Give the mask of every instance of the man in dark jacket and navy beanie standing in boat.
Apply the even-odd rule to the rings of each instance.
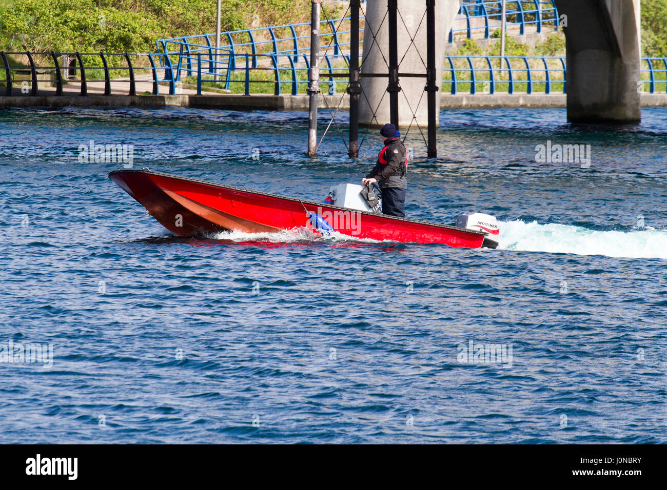
[[[406,217],[403,208],[408,189],[408,151],[401,143],[401,133],[393,124],[380,129],[384,148],[378,154],[376,166],[364,179],[362,185],[377,182],[382,190],[382,213]]]

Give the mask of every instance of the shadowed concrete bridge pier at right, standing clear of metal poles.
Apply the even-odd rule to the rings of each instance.
[[[640,0],[556,0],[556,7],[567,23],[568,121],[640,121]]]

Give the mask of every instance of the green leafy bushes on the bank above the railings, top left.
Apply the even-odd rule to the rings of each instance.
[[[155,40],[215,31],[211,0],[13,0],[0,5],[4,51],[154,51]],[[309,19],[308,0],[223,0],[221,29]]]

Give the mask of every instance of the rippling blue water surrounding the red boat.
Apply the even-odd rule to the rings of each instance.
[[[0,351],[53,349],[0,362],[3,440],[667,441],[667,109],[643,117],[447,111],[434,161],[411,130],[408,215],[496,215],[492,251],[177,239],[107,179],[120,163],[78,161],[127,143],[135,168],[322,200],[379,141],[351,161],[332,127],[307,159],[305,113],[0,111]],[[590,167],[536,163],[548,140]]]

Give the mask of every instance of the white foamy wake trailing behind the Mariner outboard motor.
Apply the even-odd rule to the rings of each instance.
[[[594,231],[569,225],[516,220],[500,224],[499,249],[667,259],[667,231]]]

